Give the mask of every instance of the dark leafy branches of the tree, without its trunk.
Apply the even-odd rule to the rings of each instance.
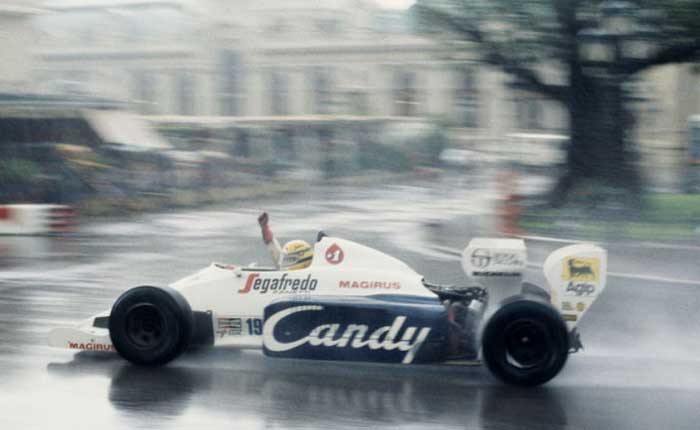
[[[537,66],[580,67],[579,34],[600,26],[601,0],[418,0],[413,7],[416,30],[448,42],[470,42],[482,59],[529,84],[531,90],[555,97],[542,85]],[[612,2],[614,3],[614,2]],[[618,4],[620,2],[617,2]],[[635,4],[636,6],[635,8]],[[661,64],[700,58],[700,1],[640,0],[629,2],[630,14],[655,47],[641,64],[620,59],[618,66],[636,73]],[[679,48],[684,48],[679,51]],[[687,49],[686,49],[687,48]],[[619,67],[618,67],[619,69]],[[536,83],[537,85],[533,85]],[[559,96],[561,97],[561,96]]]

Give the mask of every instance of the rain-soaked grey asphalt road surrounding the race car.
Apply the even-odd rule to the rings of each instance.
[[[219,349],[143,369],[111,354],[45,346],[52,327],[109,308],[130,286],[162,285],[210,261],[266,264],[261,209],[281,239],[312,241],[322,227],[429,279],[459,282],[459,265],[427,244],[431,226],[455,217],[474,215],[488,227],[489,217],[476,215],[490,210],[490,199],[470,188],[316,190],[296,203],[103,221],[75,237],[0,237],[0,428],[697,429],[700,286],[682,282],[610,278],[582,322],[586,350],[536,389],[504,386],[481,367],[273,360]],[[697,251],[684,252],[684,275],[695,276]],[[643,274],[633,254],[615,258]]]

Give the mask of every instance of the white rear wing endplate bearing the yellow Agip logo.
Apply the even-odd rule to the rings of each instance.
[[[573,329],[605,289],[608,253],[592,244],[570,245],[544,261],[552,305]]]

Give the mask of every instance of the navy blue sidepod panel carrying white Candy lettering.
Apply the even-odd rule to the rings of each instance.
[[[437,298],[285,298],[264,316],[263,351],[272,357],[425,363],[447,355],[447,311]]]

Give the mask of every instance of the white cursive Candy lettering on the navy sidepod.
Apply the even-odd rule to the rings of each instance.
[[[309,334],[291,341],[275,338],[275,327],[280,321],[300,312],[319,312],[320,305],[294,306],[275,313],[267,318],[263,332],[265,348],[273,352],[284,352],[303,345],[324,348],[369,348],[373,350],[404,351],[403,363],[411,363],[423,342],[430,334],[430,327],[404,327],[405,316],[397,316],[391,325],[382,326],[369,333],[366,324],[321,324],[310,330]],[[399,333],[403,333],[399,336]]]

